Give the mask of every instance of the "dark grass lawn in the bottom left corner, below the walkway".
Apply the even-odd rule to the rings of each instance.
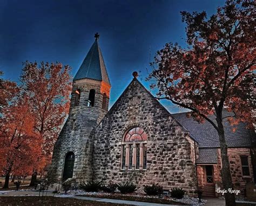
[[[0,205],[24,205],[24,206],[60,206],[60,205],[96,205],[96,206],[130,206],[129,204],[114,204],[114,203],[105,203],[105,202],[96,202],[89,200],[77,200],[74,198],[64,198],[64,197],[47,197],[46,201],[38,201],[37,196],[22,196],[22,197],[0,197]]]

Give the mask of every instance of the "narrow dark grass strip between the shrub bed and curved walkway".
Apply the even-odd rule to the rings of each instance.
[[[79,195],[79,196],[86,196],[86,197],[99,197],[99,198],[108,198],[108,199],[116,199],[116,200],[129,200],[129,201],[137,201],[137,202],[151,202],[151,203],[158,203],[158,204],[176,204],[181,205],[184,203],[174,202],[171,200],[165,200],[160,198],[151,198],[151,197],[134,197],[128,195]]]

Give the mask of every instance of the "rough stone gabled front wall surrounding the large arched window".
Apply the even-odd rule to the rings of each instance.
[[[142,127],[147,134],[147,169],[121,169],[127,129]],[[93,179],[103,183],[159,183],[164,189],[196,189],[194,141],[169,112],[134,79],[100,122],[94,135]]]

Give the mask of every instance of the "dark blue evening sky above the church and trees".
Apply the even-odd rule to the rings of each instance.
[[[59,61],[74,76],[90,49],[95,32],[112,84],[110,106],[132,80],[144,79],[154,53],[165,43],[184,45],[180,11],[215,13],[224,0],[82,1],[0,0],[0,70],[18,80],[22,62]],[[163,104],[177,112],[169,102]]]

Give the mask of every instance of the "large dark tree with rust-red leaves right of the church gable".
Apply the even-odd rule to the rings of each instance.
[[[147,80],[156,80],[158,98],[191,110],[198,122],[208,121],[219,136],[222,181],[232,188],[223,120],[252,126],[255,69],[255,3],[227,1],[207,19],[206,12],[181,12],[186,43],[166,44],[157,52]],[[223,116],[223,109],[231,115]],[[215,121],[208,115],[215,115]],[[235,205],[227,193],[226,205]]]

